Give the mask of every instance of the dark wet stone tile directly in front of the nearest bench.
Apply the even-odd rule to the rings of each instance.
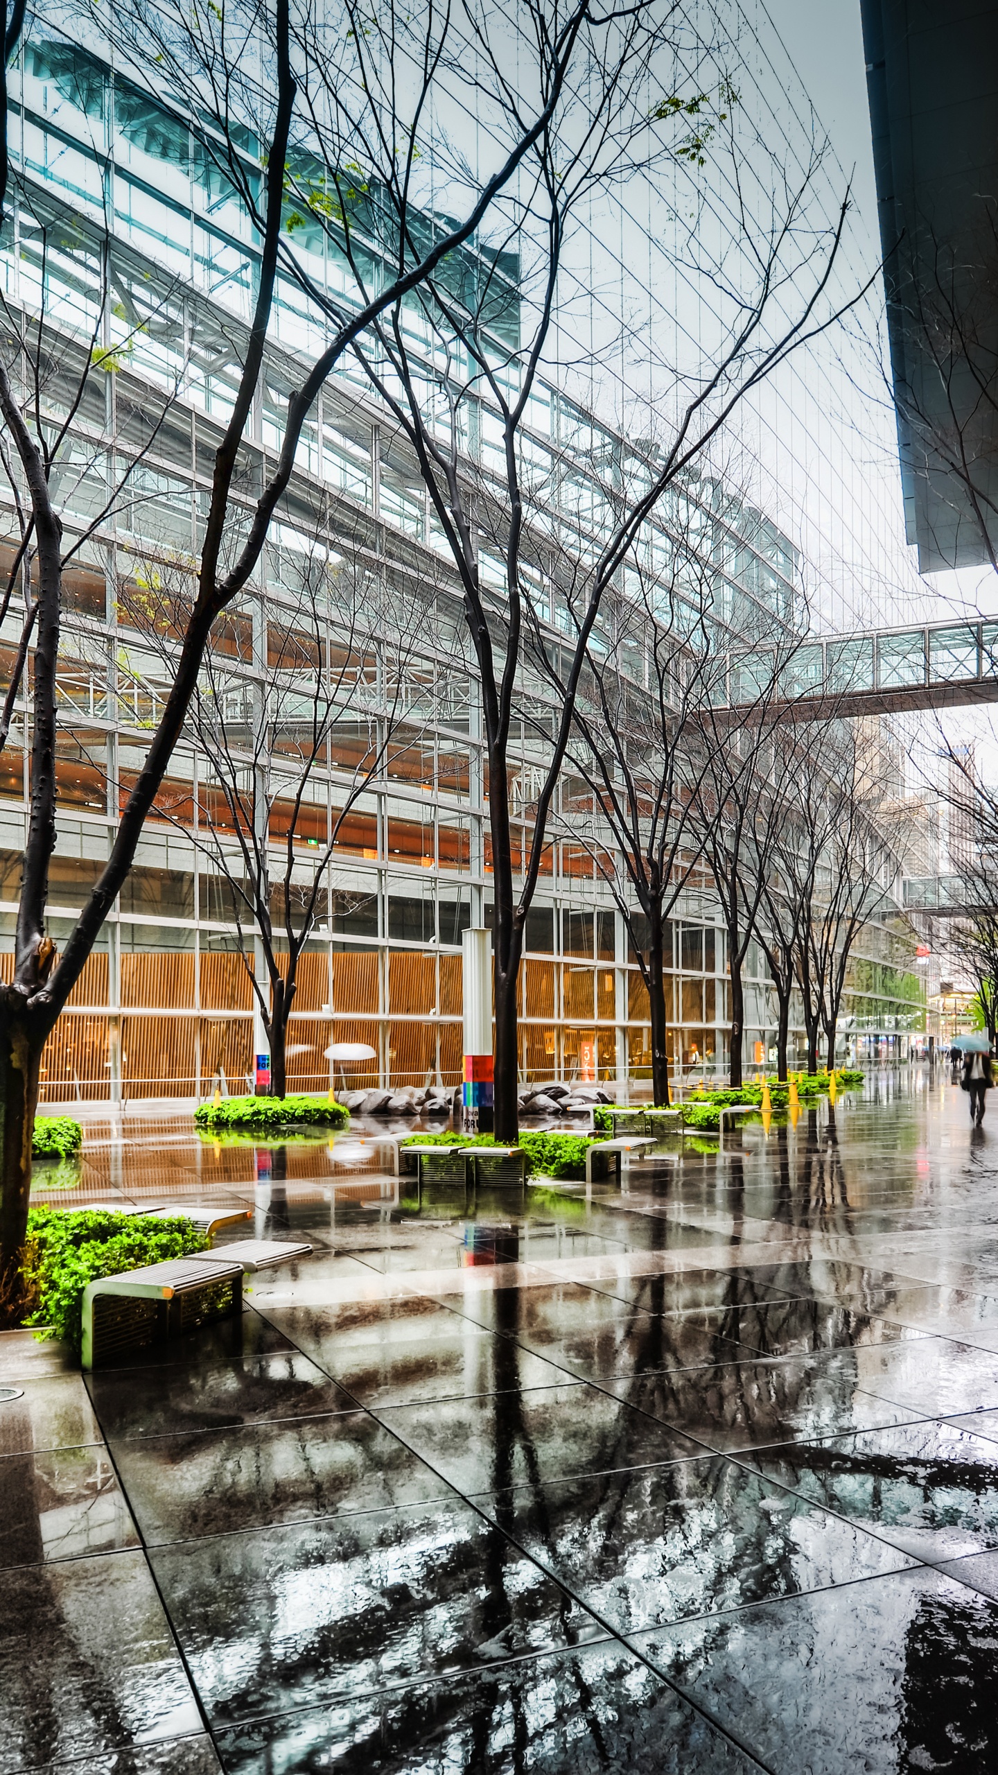
[[[87,1377],[108,1441],[224,1429],[263,1418],[350,1409],[350,1399],[298,1351],[204,1369],[96,1369]]]

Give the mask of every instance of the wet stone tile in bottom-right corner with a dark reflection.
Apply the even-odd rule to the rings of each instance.
[[[991,1775],[998,1605],[920,1567],[636,1637],[774,1775]]]

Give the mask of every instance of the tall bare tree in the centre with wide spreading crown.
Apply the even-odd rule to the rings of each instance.
[[[357,98],[343,85],[334,89],[330,73],[314,101],[316,108],[350,117],[355,142],[350,176],[327,158],[321,190],[307,181],[298,181],[297,190],[307,225],[325,225],[366,298],[364,229],[376,220],[380,238],[396,243],[400,259],[412,250],[412,160],[398,156],[385,169],[380,146],[394,128],[408,39],[394,5],[385,5],[375,20],[353,9],[350,16],[369,48],[364,92]],[[439,275],[421,284],[416,304],[407,307],[398,300],[385,311],[375,328],[376,348],[357,346],[359,367],[412,447],[433,524],[460,579],[478,662],[495,895],[495,1131],[504,1140],[517,1132],[517,978],[524,925],[547,856],[550,809],[604,595],[636,564],[646,520],[710,449],[746,394],[836,318],[829,284],[847,201],[831,225],[815,229],[803,220],[812,169],[796,185],[780,169],[764,222],[735,204],[737,245],[744,264],[751,264],[746,288],[732,289],[732,254],[725,254],[723,266],[707,268],[714,288],[728,298],[728,320],[709,364],[685,380],[677,369],[675,417],[653,462],[648,454],[627,460],[611,446],[609,433],[597,451],[566,437],[542,446],[531,435],[531,403],[554,348],[563,266],[579,213],[620,179],[653,176],[666,158],[684,154],[694,165],[703,160],[700,151],[691,153],[689,135],[677,137],[677,121],[684,128],[684,117],[696,117],[703,94],[680,91],[675,21],[671,5],[604,12],[588,0],[568,11],[549,0],[524,0],[517,12],[513,83],[510,14],[492,7],[474,12],[469,7],[462,14],[465,41],[453,66],[472,83],[492,138],[520,131],[524,92],[543,96],[545,124],[524,156],[519,188],[508,190],[495,213],[492,240],[478,264],[465,268],[467,275],[458,275],[455,259],[440,264]],[[440,51],[440,66],[449,50]],[[717,103],[726,106],[726,94],[725,87]],[[662,131],[650,131],[650,119]],[[696,122],[700,142],[703,128],[717,131],[716,144],[725,144],[737,192],[741,156],[730,110],[716,110],[709,124]],[[520,320],[511,325],[513,275],[517,312],[529,318],[522,330]],[[316,291],[316,300],[330,302],[323,291]],[[590,421],[579,415],[582,424],[591,437]],[[579,538],[568,584],[550,572],[554,509],[563,534],[575,531]],[[558,568],[558,545],[556,556]],[[549,703],[545,692],[552,682],[563,685],[563,696],[550,706],[543,733],[535,717],[536,744],[527,763],[533,797],[520,848],[513,843],[513,825],[524,774],[513,767],[510,731],[520,699]]]

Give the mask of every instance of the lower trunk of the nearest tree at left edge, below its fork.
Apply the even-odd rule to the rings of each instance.
[[[4,1127],[0,1177],[0,1298],[20,1296],[18,1269],[28,1225],[32,1191],[32,1134],[37,1108],[41,1053],[48,1035],[32,1028],[21,994],[0,996],[0,1118]]]

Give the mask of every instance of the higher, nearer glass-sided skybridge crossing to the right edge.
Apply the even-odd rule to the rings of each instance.
[[[767,685],[774,673],[778,705],[792,705],[804,721],[996,703],[998,621],[828,635],[783,655],[771,648],[732,653],[716,706],[735,714],[762,698],[772,708]]]

